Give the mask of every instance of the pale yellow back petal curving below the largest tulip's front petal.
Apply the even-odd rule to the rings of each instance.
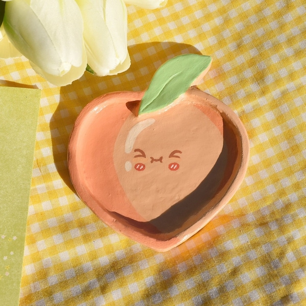
[[[66,86],[71,84],[73,81],[78,80],[84,74],[87,65],[87,56],[85,46],[83,46],[83,59],[82,64],[79,67],[72,66],[71,69],[65,73],[64,75],[54,75],[49,74],[43,71],[40,67],[35,65],[33,62],[30,61],[32,68],[40,74],[43,78],[45,78],[48,82],[55,86]]]

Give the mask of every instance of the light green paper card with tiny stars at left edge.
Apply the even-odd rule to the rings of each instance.
[[[0,86],[0,305],[19,305],[39,101]]]

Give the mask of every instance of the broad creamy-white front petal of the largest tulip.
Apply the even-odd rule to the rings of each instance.
[[[14,0],[6,4],[10,41],[36,66],[54,75],[82,64],[83,22],[74,0]]]

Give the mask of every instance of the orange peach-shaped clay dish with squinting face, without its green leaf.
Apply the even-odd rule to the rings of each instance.
[[[249,142],[238,116],[195,87],[140,114],[144,95],[113,92],[88,104],[70,136],[68,168],[75,190],[101,220],[166,251],[231,199],[247,169]]]

